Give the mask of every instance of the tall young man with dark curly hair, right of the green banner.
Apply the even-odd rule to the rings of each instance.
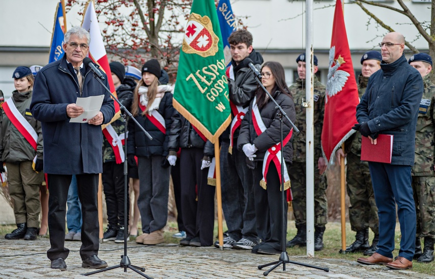
[[[220,137],[222,210],[229,235],[223,239],[223,247],[251,250],[258,243],[252,192],[253,176],[246,165],[245,154],[233,148],[233,143],[234,146],[237,143],[240,124],[258,85],[246,58],[250,58],[259,70],[263,57],[253,49],[252,35],[247,30],[231,33],[228,42],[233,56],[228,79],[233,122]],[[219,247],[219,241],[215,242],[215,247]]]

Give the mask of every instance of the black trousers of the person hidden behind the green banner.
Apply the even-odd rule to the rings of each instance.
[[[181,207],[187,236],[199,237],[202,246],[211,246],[215,222],[215,187],[207,184],[208,168],[201,170],[203,156],[200,148],[185,148],[181,151]]]

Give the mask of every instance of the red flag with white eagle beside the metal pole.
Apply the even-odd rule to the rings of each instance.
[[[322,129],[322,151],[329,162],[335,151],[349,138],[359,103],[358,87],[347,42],[341,1],[335,4],[331,49],[329,50],[328,81],[325,96],[325,117]]]

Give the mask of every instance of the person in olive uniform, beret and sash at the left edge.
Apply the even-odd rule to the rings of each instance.
[[[17,229],[5,238],[35,240],[41,212],[39,186],[44,180],[42,128],[29,110],[34,81],[31,69],[19,66],[12,78],[16,90],[2,103],[0,171],[5,171],[5,162]]]

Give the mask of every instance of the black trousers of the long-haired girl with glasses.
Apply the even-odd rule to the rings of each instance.
[[[263,178],[263,162],[257,162],[254,169],[254,199],[257,218],[257,233],[270,246],[281,250],[282,226],[287,228],[287,202],[284,200],[284,210],[281,206],[281,191],[278,171],[272,162],[267,173],[267,189],[263,189],[259,182]],[[286,197],[284,192],[284,197]],[[282,224],[282,214],[285,223]],[[284,239],[285,241],[285,239]]]

